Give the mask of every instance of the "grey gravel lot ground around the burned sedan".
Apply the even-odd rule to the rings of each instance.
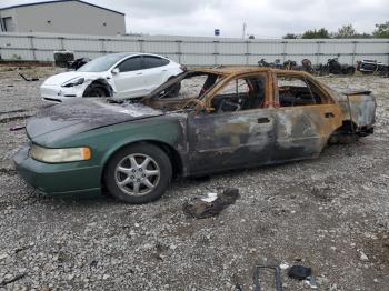
[[[0,68],[0,290],[251,290],[256,264],[281,262],[311,267],[319,290],[388,290],[389,79],[321,80],[372,90],[373,136],[317,160],[178,181],[160,201],[128,205],[42,197],[18,178],[11,157],[27,138],[9,128],[43,106],[41,82]],[[227,187],[241,198],[219,217],[183,214],[184,201]]]

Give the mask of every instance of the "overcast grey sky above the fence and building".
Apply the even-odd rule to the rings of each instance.
[[[127,32],[241,38],[280,38],[351,23],[371,32],[389,21],[388,0],[84,0],[126,13]],[[0,0],[0,8],[38,0]]]

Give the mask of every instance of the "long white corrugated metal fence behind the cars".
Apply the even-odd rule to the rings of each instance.
[[[242,40],[174,36],[91,37],[47,33],[0,33],[0,56],[4,60],[52,61],[53,51],[70,50],[76,58],[96,58],[112,52],[151,52],[187,66],[256,66],[258,60],[308,58],[326,63],[339,56],[342,63],[372,59],[389,63],[389,39]]]

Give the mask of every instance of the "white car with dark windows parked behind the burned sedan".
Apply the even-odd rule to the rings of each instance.
[[[43,100],[62,102],[74,97],[130,99],[146,96],[181,73],[183,67],[150,53],[112,53],[99,57],[77,71],[48,78],[40,88]],[[172,88],[171,94],[180,88]]]

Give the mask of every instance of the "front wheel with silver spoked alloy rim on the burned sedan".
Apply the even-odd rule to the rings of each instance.
[[[167,153],[149,143],[119,150],[108,161],[103,181],[114,198],[140,204],[162,197],[169,187],[172,167]]]

